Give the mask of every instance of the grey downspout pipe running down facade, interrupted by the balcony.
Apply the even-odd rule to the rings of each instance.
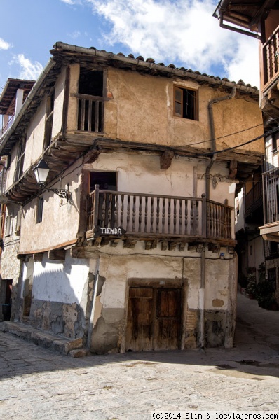
[[[205,172],[205,197],[207,200],[210,200],[210,169],[212,168],[213,163],[216,160],[216,135],[215,135],[215,125],[214,125],[214,116],[213,116],[213,104],[217,104],[221,101],[226,101],[233,99],[236,96],[236,85],[233,86],[230,94],[226,94],[224,97],[218,97],[211,99],[208,103],[208,115],[210,120],[210,136],[212,139],[212,158],[209,165],[207,165]],[[200,257],[200,288],[198,290],[198,314],[199,314],[199,337],[198,337],[198,346],[200,349],[205,347],[205,244],[203,244],[203,249],[201,251]]]

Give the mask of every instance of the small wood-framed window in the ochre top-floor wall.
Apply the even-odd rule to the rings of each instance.
[[[198,120],[197,91],[174,86],[174,115],[177,117]]]

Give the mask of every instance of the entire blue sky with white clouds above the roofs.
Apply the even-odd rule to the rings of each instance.
[[[56,41],[152,57],[259,86],[254,38],[221,29],[218,0],[0,0],[0,87],[36,79]],[[1,93],[1,88],[0,88]]]

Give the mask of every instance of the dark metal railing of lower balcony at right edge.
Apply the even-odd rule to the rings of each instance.
[[[275,223],[279,221],[279,169],[272,169],[264,172],[264,224]]]

